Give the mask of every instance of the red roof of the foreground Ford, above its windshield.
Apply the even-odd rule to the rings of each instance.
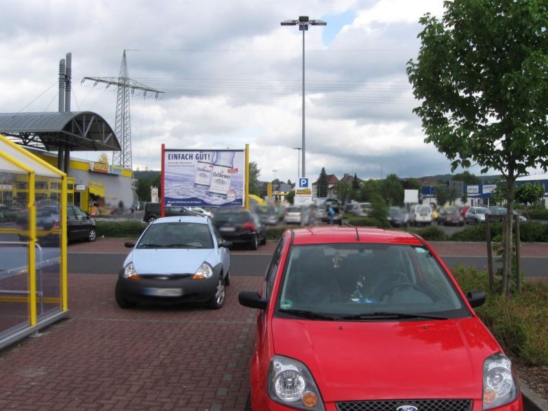
[[[360,240],[356,237],[356,228]],[[421,240],[407,232],[366,227],[309,227],[293,230],[294,245],[332,244],[335,242],[423,245]]]

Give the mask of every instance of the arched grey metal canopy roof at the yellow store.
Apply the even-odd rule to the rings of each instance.
[[[120,151],[112,127],[94,112],[0,113],[0,133],[47,151]]]

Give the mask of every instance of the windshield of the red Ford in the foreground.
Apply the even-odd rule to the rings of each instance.
[[[380,244],[293,246],[277,299],[279,313],[470,313],[425,247]]]

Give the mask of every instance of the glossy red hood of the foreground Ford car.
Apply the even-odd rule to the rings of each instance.
[[[324,401],[482,397],[500,351],[477,319],[329,322],[273,319],[275,353],[308,366]]]

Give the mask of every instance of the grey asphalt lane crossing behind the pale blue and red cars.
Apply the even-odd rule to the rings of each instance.
[[[116,274],[123,264],[127,253],[69,253],[69,273],[75,274]],[[486,257],[471,256],[441,256],[445,264],[452,268],[457,264],[474,266],[484,269],[487,266]],[[264,275],[271,256],[265,254],[236,254],[231,256],[231,275]],[[495,263],[495,270],[501,266]],[[547,276],[548,256],[522,257],[521,269],[526,277]]]

